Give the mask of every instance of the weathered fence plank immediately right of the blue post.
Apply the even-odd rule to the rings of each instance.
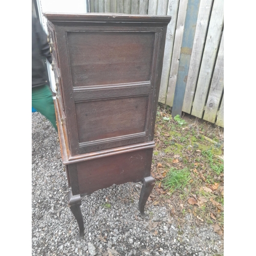
[[[188,114],[191,113],[192,103],[195,96],[212,2],[213,0],[201,0],[200,2],[194,44],[187,75],[186,91],[182,106],[182,111]]]

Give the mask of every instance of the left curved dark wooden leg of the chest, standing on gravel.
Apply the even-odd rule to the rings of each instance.
[[[69,207],[76,218],[78,227],[79,227],[79,234],[77,235],[77,240],[81,240],[84,234],[84,226],[83,226],[83,219],[82,219],[82,212],[80,209],[81,205],[81,197],[80,195],[72,195],[72,191],[68,194],[68,203]]]

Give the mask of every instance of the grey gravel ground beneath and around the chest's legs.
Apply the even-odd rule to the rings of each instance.
[[[85,235],[76,241],[77,222],[68,207],[57,133],[32,113],[32,255],[223,255],[223,240],[211,225],[178,226],[168,206],[145,206],[139,217],[142,184],[126,183],[82,198]]]

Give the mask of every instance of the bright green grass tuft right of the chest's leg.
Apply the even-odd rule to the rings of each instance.
[[[162,180],[162,184],[165,189],[169,189],[170,193],[173,193],[176,189],[183,189],[190,178],[191,175],[187,168],[181,170],[171,168]]]

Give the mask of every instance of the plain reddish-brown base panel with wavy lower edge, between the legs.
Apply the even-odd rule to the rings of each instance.
[[[153,148],[77,163],[81,195],[150,176]]]

